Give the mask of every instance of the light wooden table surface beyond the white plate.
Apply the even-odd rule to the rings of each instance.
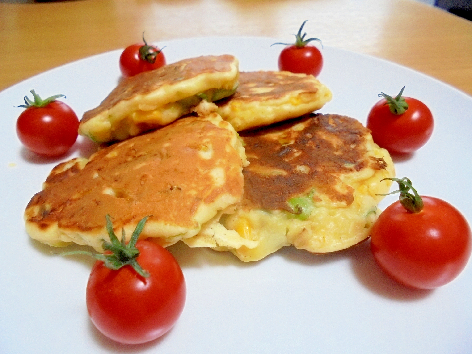
[[[93,54],[212,35],[292,41],[303,20],[324,45],[411,67],[472,95],[472,22],[412,0],[0,2],[0,91]],[[386,73],[386,75],[388,75]]]

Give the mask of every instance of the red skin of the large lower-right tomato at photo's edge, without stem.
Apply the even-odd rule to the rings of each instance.
[[[472,236],[464,216],[451,204],[421,196],[419,213],[399,201],[388,206],[371,231],[371,249],[380,268],[413,288],[432,289],[449,283],[471,255]]]

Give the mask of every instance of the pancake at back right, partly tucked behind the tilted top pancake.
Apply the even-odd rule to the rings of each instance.
[[[328,87],[312,75],[254,71],[239,73],[236,93],[217,104],[221,117],[239,132],[300,117],[330,100]]]

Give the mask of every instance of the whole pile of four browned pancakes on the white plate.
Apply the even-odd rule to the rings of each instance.
[[[141,238],[242,261],[291,244],[312,253],[357,244],[394,168],[357,120],[311,113],[330,99],[313,76],[239,72],[231,55],[128,78],[79,127],[118,142],[56,166],[26,207],[26,230],[103,252],[106,214],[128,239],[149,216]]]

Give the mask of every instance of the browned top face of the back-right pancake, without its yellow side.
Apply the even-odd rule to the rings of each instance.
[[[280,71],[239,72],[239,86],[236,93],[217,104],[221,106],[229,100],[245,102],[276,100],[296,91],[317,93],[318,88],[313,80],[313,76]]]

